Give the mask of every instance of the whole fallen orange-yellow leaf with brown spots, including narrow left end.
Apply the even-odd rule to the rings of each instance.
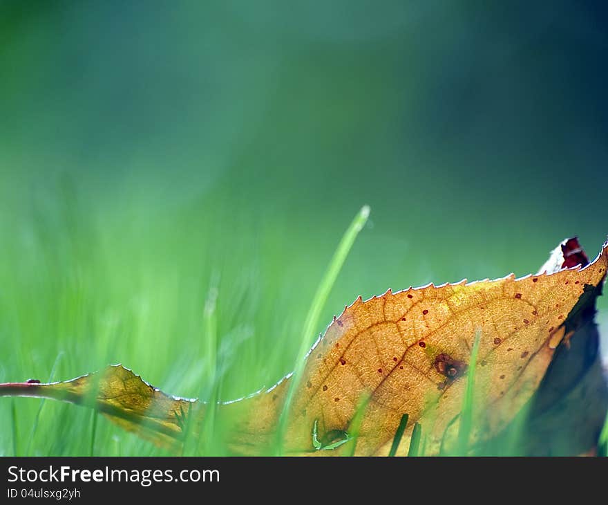
[[[578,244],[578,243],[577,243]],[[397,454],[407,452],[415,423],[426,454],[455,443],[475,335],[473,441],[497,434],[538,388],[555,347],[575,329],[577,307],[594,301],[608,267],[608,244],[591,264],[562,246],[549,272],[515,279],[390,290],[334,318],[308,353],[279,441],[287,454],[388,455],[403,414],[409,422]],[[586,258],[585,258],[586,259]],[[551,270],[558,270],[551,273]],[[272,450],[292,377],[240,401],[218,405],[231,419],[235,453]],[[39,396],[95,407],[124,428],[167,443],[181,441],[193,400],[168,396],[128,369],[113,366],[64,383],[8,383],[0,396]],[[365,402],[362,404],[362,400]],[[204,408],[196,410],[199,432]],[[236,421],[235,421],[236,420]],[[335,450],[318,451],[332,442]],[[345,441],[345,443],[341,443]]]

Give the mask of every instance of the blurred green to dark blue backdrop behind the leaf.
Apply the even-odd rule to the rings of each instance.
[[[571,235],[595,257],[607,21],[591,1],[0,1],[0,382],[122,362],[197,396],[216,288],[220,395],[271,385],[365,203],[319,331],[359,294],[526,275]],[[0,454],[90,453],[90,411],[0,400]],[[104,419],[94,452],[162,453]]]

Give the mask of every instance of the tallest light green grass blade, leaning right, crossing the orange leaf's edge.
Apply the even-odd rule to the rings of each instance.
[[[316,328],[319,326],[321,310],[323,309],[323,306],[325,306],[325,302],[327,302],[327,297],[330,295],[330,291],[336,282],[336,278],[342,269],[344,261],[348,256],[348,252],[350,252],[350,248],[352,248],[352,244],[354,244],[355,239],[357,239],[357,235],[359,235],[359,232],[361,229],[363,229],[363,226],[365,226],[369,216],[370,208],[368,205],[363,205],[343,235],[338,248],[336,248],[334,256],[330,261],[330,265],[327,267],[325,275],[323,275],[323,279],[321,279],[321,284],[319,284],[319,287],[317,288],[312,299],[310,309],[308,309],[301,336],[300,349],[298,350],[298,356],[296,357],[296,367],[292,374],[289,389],[287,390],[287,396],[285,397],[285,403],[283,405],[283,410],[281,411],[281,416],[278,420],[276,432],[276,453],[278,455],[283,453],[283,436],[287,426],[289,408],[292,405],[294,393],[296,392],[296,387],[298,387],[298,383],[304,369],[306,354],[310,349],[310,336],[314,334]]]

